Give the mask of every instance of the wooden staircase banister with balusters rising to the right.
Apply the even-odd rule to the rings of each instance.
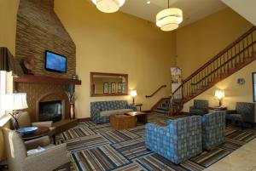
[[[183,83],[171,94],[170,112],[177,115],[183,109],[183,104],[202,94],[216,83],[241,70],[253,60],[256,60],[256,27],[237,38],[230,45],[197,71],[183,80]],[[182,91],[180,103],[175,102],[175,94]],[[177,101],[177,100],[176,100]]]

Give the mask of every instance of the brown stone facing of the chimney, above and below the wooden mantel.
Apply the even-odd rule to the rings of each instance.
[[[44,69],[44,52],[53,51],[67,56],[67,73]],[[54,0],[20,0],[17,14],[16,54],[22,61],[33,58],[35,75],[71,78],[76,73],[76,47],[61,20],[54,12]],[[69,116],[69,103],[64,93],[68,85],[15,83],[15,90],[27,94],[27,103],[32,121],[38,121],[38,102],[62,100],[65,117]]]

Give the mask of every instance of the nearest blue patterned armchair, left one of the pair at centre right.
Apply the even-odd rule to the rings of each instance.
[[[201,117],[168,120],[166,127],[146,125],[146,147],[178,164],[202,151]]]

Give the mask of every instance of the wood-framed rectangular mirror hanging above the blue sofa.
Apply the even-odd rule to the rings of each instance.
[[[90,72],[90,96],[128,95],[128,74]]]

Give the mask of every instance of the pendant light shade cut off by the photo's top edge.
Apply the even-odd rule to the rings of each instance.
[[[97,9],[103,13],[114,13],[119,10],[125,0],[92,0],[96,4]]]

